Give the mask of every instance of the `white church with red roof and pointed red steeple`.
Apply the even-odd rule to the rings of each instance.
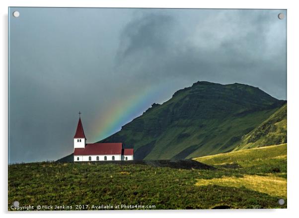
[[[81,118],[79,116],[74,136],[74,161],[107,160],[134,160],[134,149],[124,148],[123,143],[87,144]]]

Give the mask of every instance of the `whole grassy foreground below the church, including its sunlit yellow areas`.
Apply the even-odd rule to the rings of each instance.
[[[133,162],[13,164],[8,166],[8,210],[13,210],[14,201],[20,206],[34,206],[33,210],[38,205],[65,206],[58,210],[86,209],[76,205],[88,205],[89,210],[103,205],[151,209],[286,208],[286,155],[287,146],[276,145],[198,159],[215,169]],[[278,204],[280,198],[285,205]]]

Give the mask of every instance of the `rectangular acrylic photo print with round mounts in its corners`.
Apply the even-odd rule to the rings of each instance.
[[[287,10],[8,8],[8,211],[287,208]]]

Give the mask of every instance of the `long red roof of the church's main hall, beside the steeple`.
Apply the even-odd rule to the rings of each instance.
[[[74,155],[122,154],[122,143],[86,144],[85,148],[75,148]]]

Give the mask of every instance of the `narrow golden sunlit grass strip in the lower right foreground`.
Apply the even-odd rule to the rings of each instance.
[[[197,179],[196,186],[219,185],[245,187],[271,196],[287,198],[287,179],[278,176],[244,175],[244,177],[224,176],[213,179]]]

